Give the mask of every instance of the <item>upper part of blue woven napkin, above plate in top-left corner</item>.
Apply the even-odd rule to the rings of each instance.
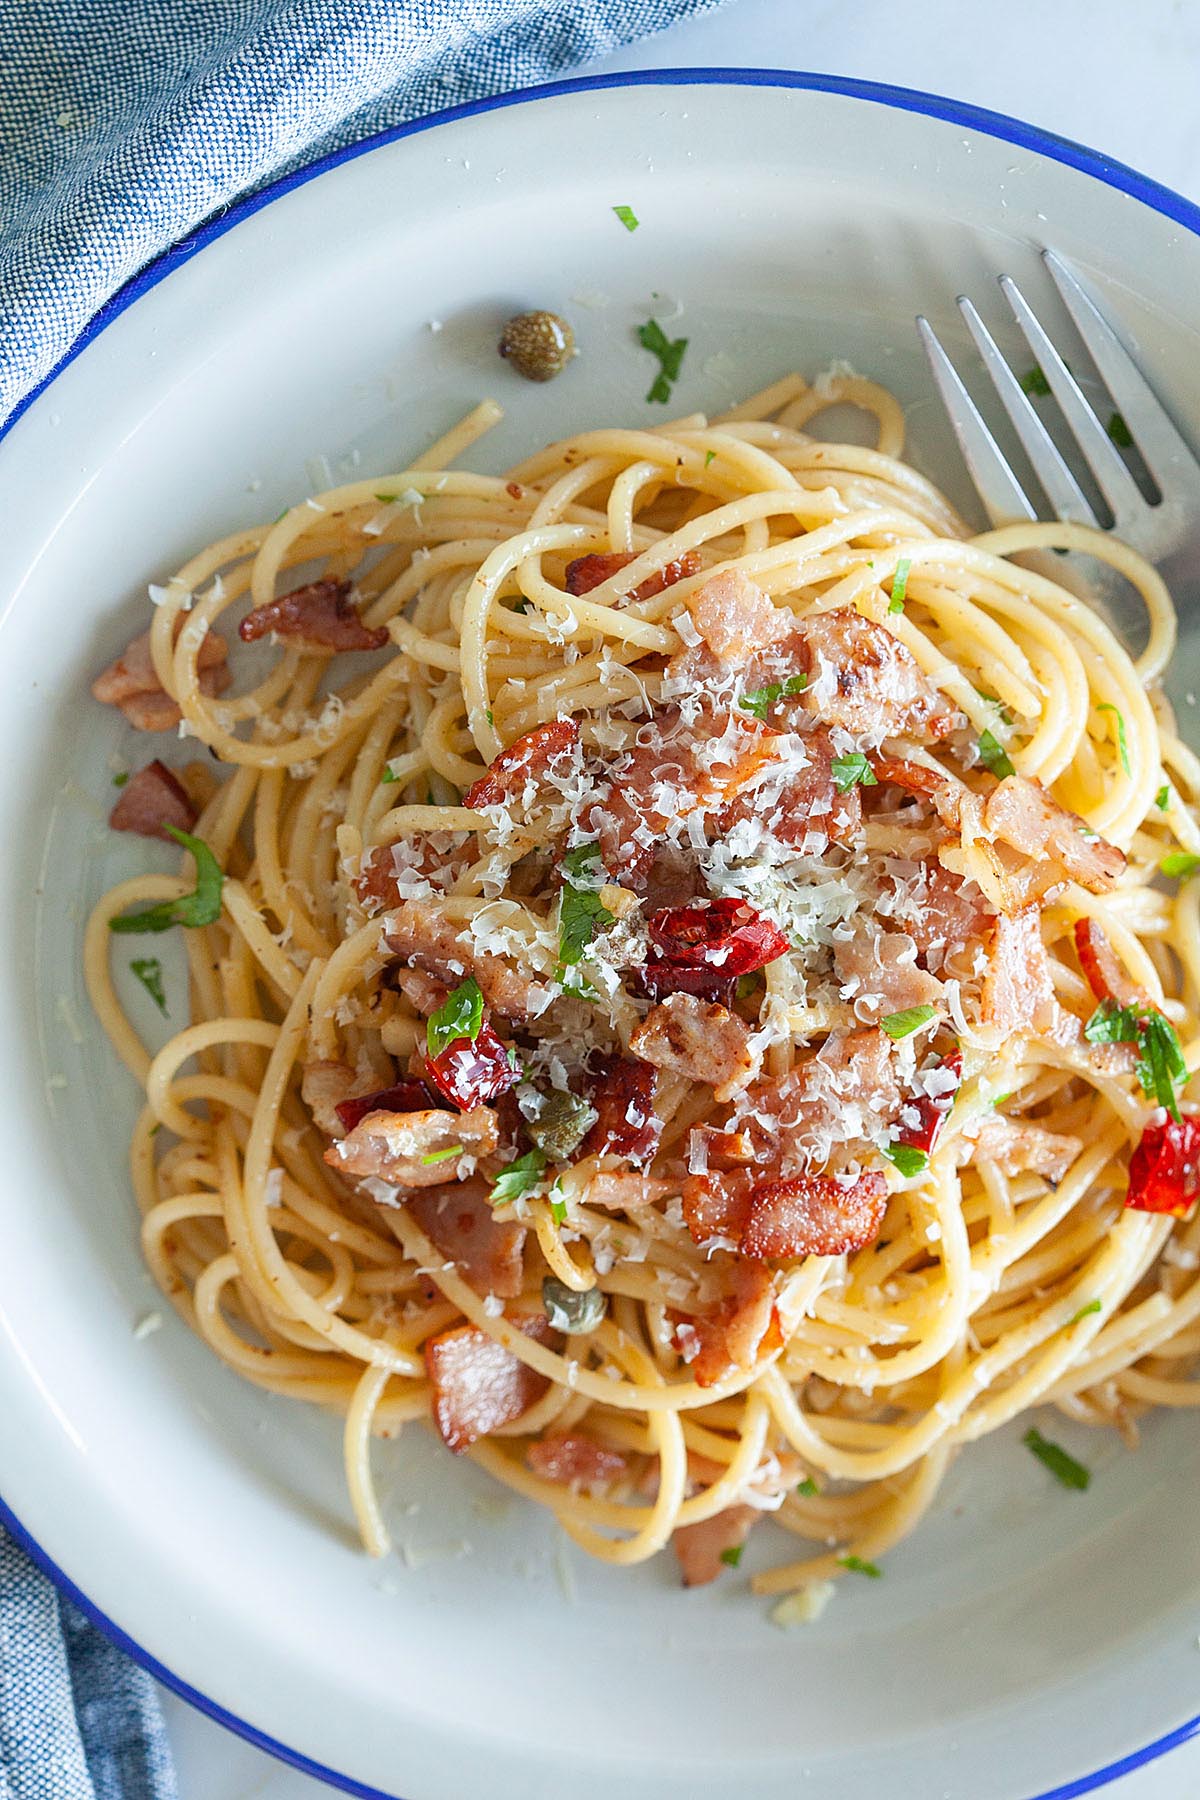
[[[0,423],[117,288],[241,194],[720,4],[0,0]]]

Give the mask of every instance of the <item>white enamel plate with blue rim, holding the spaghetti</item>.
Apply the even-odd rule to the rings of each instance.
[[[106,760],[131,745],[86,682],[140,628],[148,581],[322,484],[322,457],[394,470],[488,392],[509,409],[488,466],[649,418],[631,328],[673,310],[662,295],[691,340],[680,410],[847,356],[910,403],[937,472],[912,315],[961,342],[954,295],[988,302],[1002,268],[1047,299],[1045,241],[1195,427],[1200,218],[1011,122],[792,76],[581,83],[363,149],[158,266],[0,448],[11,1516],[158,1672],[347,1786],[1081,1793],[1198,1710],[1191,1415],[1151,1420],[1137,1456],[1088,1436],[1087,1496],[1013,1435],[972,1449],[885,1580],[781,1634],[736,1579],[684,1593],[667,1561],[585,1566],[543,1516],[497,1517],[486,1478],[417,1431],[376,1451],[408,1557],[372,1564],[333,1418],[243,1386],[171,1316],[135,1339],[158,1305],[124,1168],[135,1093],[88,1019],[79,936],[148,846],[104,830]],[[529,304],[581,344],[545,389],[493,349]]]

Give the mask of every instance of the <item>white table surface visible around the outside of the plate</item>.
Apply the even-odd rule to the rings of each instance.
[[[813,68],[930,88],[1079,139],[1200,200],[1196,0],[730,0],[721,13],[594,67],[696,63]],[[164,1708],[182,1800],[329,1793],[173,1694],[164,1692]],[[1200,1739],[1105,1793],[1193,1800]],[[486,1777],[464,1800],[488,1800]]]

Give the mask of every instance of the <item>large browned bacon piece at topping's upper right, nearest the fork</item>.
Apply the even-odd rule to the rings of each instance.
[[[921,673],[900,639],[853,607],[808,614],[795,637],[808,673],[799,704],[826,725],[876,742],[898,736],[937,742],[964,729],[964,715]],[[790,644],[792,639],[779,648]]]

